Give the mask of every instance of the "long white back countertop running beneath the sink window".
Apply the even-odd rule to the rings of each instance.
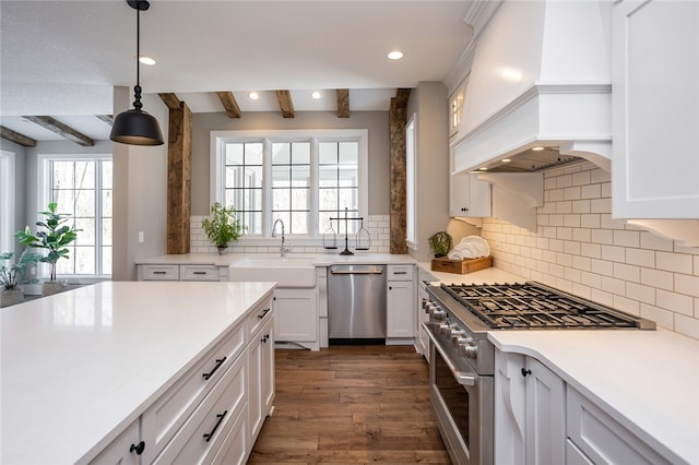
[[[159,257],[150,257],[147,259],[139,259],[137,265],[167,265],[167,264],[197,264],[197,265],[215,265],[229,266],[236,262],[246,259],[273,259],[280,258],[279,253],[225,253],[218,255],[216,253],[182,253],[168,254]],[[356,264],[403,264],[415,263],[415,259],[411,255],[399,255],[391,253],[355,253],[354,255],[340,255],[339,252],[333,253],[287,253],[287,260],[308,260],[315,266],[329,266],[339,263],[356,263]]]

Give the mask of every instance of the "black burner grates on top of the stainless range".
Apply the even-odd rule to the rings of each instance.
[[[641,325],[641,320],[631,315],[540,283],[442,284],[441,288],[493,330],[618,329]]]

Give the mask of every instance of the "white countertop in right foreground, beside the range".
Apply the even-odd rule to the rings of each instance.
[[[673,463],[699,464],[699,341],[656,331],[491,331]],[[684,462],[683,462],[684,461]]]

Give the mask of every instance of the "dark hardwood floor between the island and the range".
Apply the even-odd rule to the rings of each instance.
[[[449,464],[412,346],[276,349],[274,414],[249,464]]]

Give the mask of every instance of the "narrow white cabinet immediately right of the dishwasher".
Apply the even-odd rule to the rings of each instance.
[[[410,339],[415,336],[416,289],[414,265],[389,265],[387,270],[387,337]],[[390,343],[390,341],[389,341]]]

